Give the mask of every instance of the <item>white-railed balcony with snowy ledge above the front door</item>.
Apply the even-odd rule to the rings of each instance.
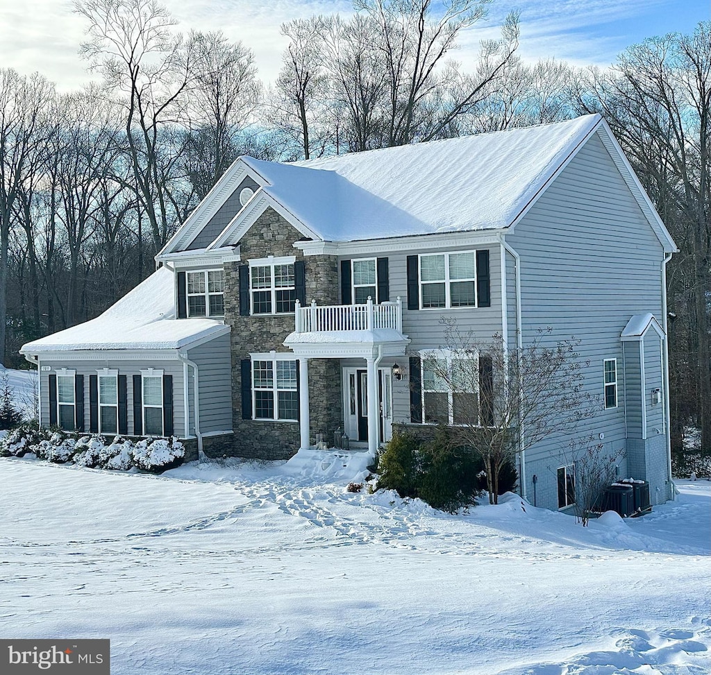
[[[296,301],[294,332],[284,345],[306,358],[402,355],[410,342],[402,334],[402,302],[376,305],[301,307]]]

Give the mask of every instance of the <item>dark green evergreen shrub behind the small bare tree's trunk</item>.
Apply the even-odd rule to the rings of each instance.
[[[454,513],[479,495],[479,461],[471,448],[455,446],[449,429],[439,426],[420,448],[419,496],[435,509]]]

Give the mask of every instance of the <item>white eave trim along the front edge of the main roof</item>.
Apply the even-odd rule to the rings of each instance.
[[[407,237],[383,237],[383,239],[360,239],[355,242],[294,242],[305,256],[333,255],[343,257],[377,256],[379,253],[421,251],[439,253],[444,249],[456,253],[455,247],[486,247],[501,242],[502,229],[480,229],[471,232],[441,232],[411,234]]]

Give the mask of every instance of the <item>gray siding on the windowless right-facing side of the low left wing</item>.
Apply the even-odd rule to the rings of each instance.
[[[188,359],[198,366],[200,387],[200,431],[232,431],[232,371],[230,335],[205,342],[188,351]],[[188,369],[191,401],[191,434],[195,432],[193,416],[193,370]]]

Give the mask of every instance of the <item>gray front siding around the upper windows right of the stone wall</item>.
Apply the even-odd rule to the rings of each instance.
[[[416,253],[439,253],[488,249],[489,276],[491,289],[490,307],[467,307],[457,309],[407,309],[407,256]],[[372,256],[363,256],[372,257]],[[501,333],[501,253],[498,245],[488,244],[468,247],[438,247],[420,251],[380,253],[378,257],[387,257],[388,281],[390,285],[390,301],[397,297],[402,301],[402,333],[410,338],[407,347],[408,354],[419,350],[440,349],[446,347],[444,342],[444,325],[442,318],[456,319],[462,333],[471,331],[475,340],[486,340],[494,333]],[[341,260],[357,260],[358,256],[341,257],[338,259],[340,270]],[[339,274],[339,284],[341,283]],[[339,289],[340,291],[340,289]],[[394,423],[410,422],[410,372],[408,355],[396,357],[402,366],[404,377],[400,382],[392,383],[392,420]],[[365,362],[363,367],[365,367]]]

